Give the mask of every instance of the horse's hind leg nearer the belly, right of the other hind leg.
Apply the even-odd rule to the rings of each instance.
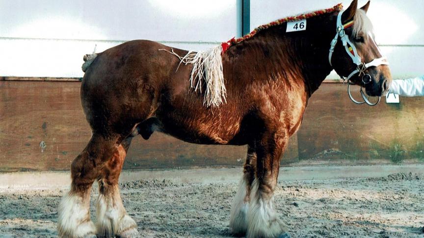
[[[131,143],[131,137],[118,146],[103,167],[99,177],[99,197],[96,203],[96,228],[99,237],[139,237],[137,224],[127,214],[122,204],[118,179]]]

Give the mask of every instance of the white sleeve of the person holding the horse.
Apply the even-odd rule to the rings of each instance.
[[[389,93],[401,96],[424,96],[424,75],[416,78],[392,80]]]

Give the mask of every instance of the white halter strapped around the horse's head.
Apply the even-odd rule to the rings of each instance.
[[[330,65],[333,66],[331,64],[331,57],[333,56],[334,48],[336,47],[339,36],[340,36],[340,39],[342,40],[344,49],[346,50],[347,54],[350,56],[350,58],[352,58],[353,63],[357,65],[357,69],[354,70],[353,72],[351,72],[347,76],[347,80],[349,80],[356,73],[359,73],[359,76],[360,76],[361,73],[364,73],[364,71],[367,70],[370,67],[377,67],[379,65],[389,65],[389,62],[384,61],[384,60],[386,60],[385,57],[373,59],[371,62],[369,62],[367,64],[362,63],[362,59],[361,59],[361,57],[359,57],[358,52],[356,51],[355,45],[352,44],[352,42],[350,42],[349,36],[344,33],[344,28],[347,28],[348,26],[344,26],[342,24],[342,14],[343,14],[343,11],[340,11],[339,15],[337,16],[336,36],[331,41],[331,46],[330,46],[330,50],[329,50],[330,52],[328,54],[328,61],[330,62]],[[349,49],[348,45],[349,45],[350,49]],[[367,84],[368,82],[364,82],[364,83]]]

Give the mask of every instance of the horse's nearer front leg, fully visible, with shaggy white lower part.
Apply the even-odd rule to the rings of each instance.
[[[290,238],[274,210],[280,157],[288,142],[286,130],[264,133],[256,143],[256,174],[250,190],[247,238]]]

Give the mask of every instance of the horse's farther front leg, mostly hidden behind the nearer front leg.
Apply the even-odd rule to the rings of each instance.
[[[247,210],[250,200],[250,187],[255,178],[256,151],[248,146],[243,176],[238,185],[236,197],[231,206],[230,228],[234,235],[243,236],[247,231]]]

